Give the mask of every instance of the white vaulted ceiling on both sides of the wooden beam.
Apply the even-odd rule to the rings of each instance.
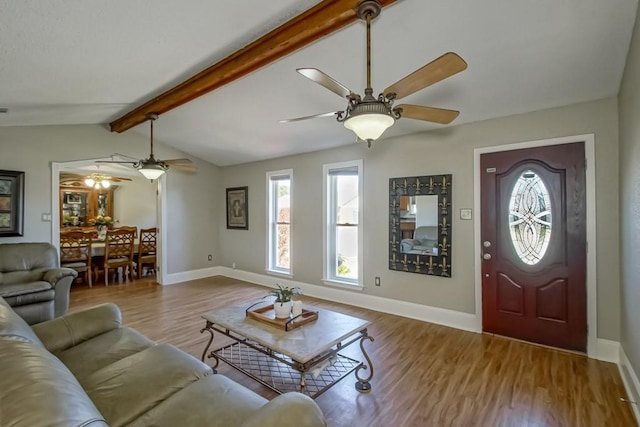
[[[317,0],[0,0],[0,126],[109,123]],[[469,68],[402,100],[452,125],[618,93],[637,0],[399,0],[372,25],[375,95],[444,52]],[[346,101],[295,72],[365,86],[358,22],[170,111],[155,139],[224,166],[352,144]],[[451,126],[451,125],[450,125]],[[439,128],[401,119],[381,140]],[[148,135],[148,125],[128,132]]]

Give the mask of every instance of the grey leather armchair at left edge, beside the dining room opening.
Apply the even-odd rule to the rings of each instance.
[[[0,244],[0,297],[29,324],[65,314],[77,276],[60,268],[58,250],[49,243]]]

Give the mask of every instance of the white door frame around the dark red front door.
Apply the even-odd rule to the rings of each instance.
[[[482,333],[482,239],[481,239],[481,204],[480,204],[480,156],[486,153],[512,151],[522,148],[544,147],[549,145],[584,142],[584,154],[587,162],[585,171],[587,196],[587,356],[597,358],[598,339],[598,300],[597,300],[597,265],[596,265],[596,168],[595,168],[595,135],[584,134],[560,138],[541,139],[536,141],[517,142],[513,144],[495,145],[476,148],[473,151],[473,206],[476,215],[473,223],[475,285],[476,285],[476,331]]]

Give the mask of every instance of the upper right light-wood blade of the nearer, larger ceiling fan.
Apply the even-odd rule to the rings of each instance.
[[[448,52],[397,81],[384,90],[384,96],[393,99],[404,98],[414,92],[438,83],[467,68],[467,63],[453,52]]]

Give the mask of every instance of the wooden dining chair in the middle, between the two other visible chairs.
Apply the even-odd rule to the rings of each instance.
[[[122,268],[122,275],[133,280],[133,254],[138,227],[107,230],[104,245],[104,284],[109,286],[109,270]]]

